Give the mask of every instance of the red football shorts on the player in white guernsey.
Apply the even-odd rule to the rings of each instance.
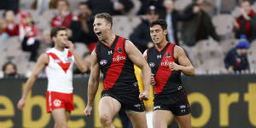
[[[46,109],[50,113],[54,109],[65,108],[66,111],[74,110],[73,93],[55,91],[46,92]]]

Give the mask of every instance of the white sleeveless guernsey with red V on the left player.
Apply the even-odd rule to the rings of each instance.
[[[46,51],[48,65],[46,74],[48,77],[48,91],[61,93],[73,93],[73,63],[74,57],[69,49],[60,51],[52,48]]]

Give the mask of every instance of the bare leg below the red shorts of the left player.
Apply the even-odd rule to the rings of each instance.
[[[54,109],[51,113],[54,117],[55,126],[57,128],[67,128],[67,117],[64,108]]]

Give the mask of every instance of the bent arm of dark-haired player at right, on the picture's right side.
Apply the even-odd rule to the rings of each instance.
[[[170,65],[172,71],[181,71],[186,75],[195,75],[195,68],[192,66],[183,48],[177,45],[174,47],[174,58],[177,59],[179,65],[172,63]]]

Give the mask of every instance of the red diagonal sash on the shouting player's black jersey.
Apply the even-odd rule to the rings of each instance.
[[[124,47],[122,46],[124,45],[123,41],[124,41],[124,38],[120,37],[114,48],[111,65],[108,68],[106,78],[103,80],[104,90],[108,90],[109,88],[113,87],[113,84],[115,84],[117,79],[119,79],[119,75],[121,74],[122,69],[125,66],[127,55],[125,53]],[[118,48],[122,49],[122,53],[118,52],[119,51]],[[121,59],[122,57],[125,57],[125,60]]]

